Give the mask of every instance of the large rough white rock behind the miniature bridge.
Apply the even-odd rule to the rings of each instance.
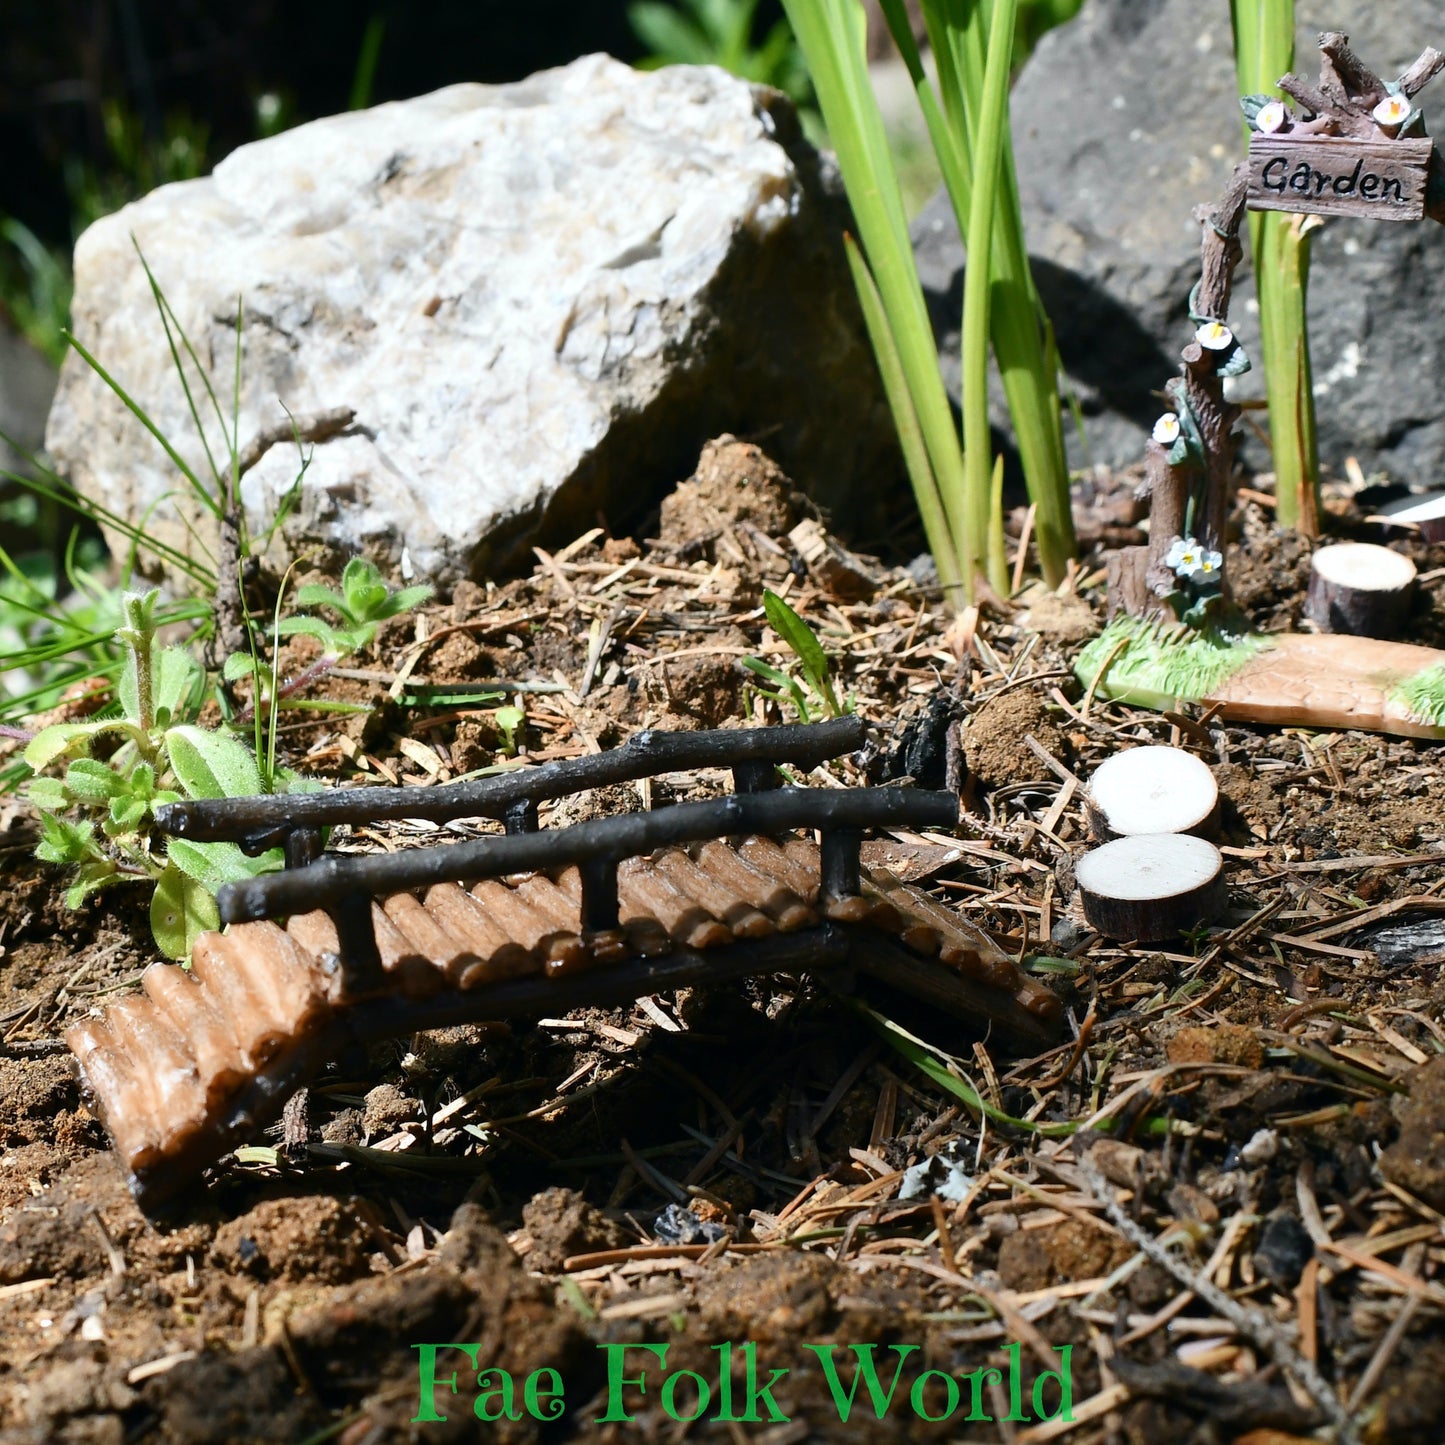
[[[721,431],[760,434],[847,530],[896,447],[834,207],[780,97],[585,56],[318,120],[152,192],[81,237],[74,327],[202,475],[136,246],[227,413],[244,302],[243,447],[283,406],[355,412],[315,447],[276,561],[319,546],[405,553],[442,585],[481,575],[598,510],[626,523]],[[87,496],[214,546],[74,354],[46,444]],[[244,477],[253,532],[296,471],[285,444]]]

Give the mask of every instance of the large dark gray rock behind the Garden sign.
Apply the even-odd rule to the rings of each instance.
[[[1318,72],[1319,30],[1345,30],[1393,77],[1445,43],[1433,0],[1298,0],[1295,69]],[[1194,0],[1090,0],[1045,36],[1013,91],[1014,149],[1035,276],[1087,418],[1088,455],[1066,426],[1071,462],[1143,455],[1188,340],[1198,276],[1195,205],[1212,202],[1244,155],[1230,12]],[[1445,107],[1445,81],[1422,97]],[[1438,129],[1438,127],[1436,127]],[[962,247],[946,197],[915,224],[919,272],[949,348],[957,396]],[[1319,452],[1340,473],[1438,483],[1445,471],[1445,228],[1331,220],[1314,236],[1311,350]],[[1259,355],[1248,262],[1230,316]],[[1256,368],[1234,394],[1263,397]],[[996,422],[1004,419],[996,410]],[[1269,467],[1256,442],[1247,461]]]

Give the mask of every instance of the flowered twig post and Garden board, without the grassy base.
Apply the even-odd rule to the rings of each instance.
[[[1195,334],[1166,387],[1172,410],[1155,423],[1144,454],[1149,545],[1110,559],[1111,611],[1201,626],[1227,603],[1224,522],[1240,412],[1224,399],[1224,380],[1250,366],[1227,325],[1244,211],[1445,224],[1445,163],[1415,105],[1445,69],[1445,55],[1428,48],[1397,81],[1383,81],[1338,30],[1319,38],[1319,51],[1318,85],[1298,75],[1279,82],[1298,114],[1269,95],[1244,98],[1248,160],[1218,205],[1195,211],[1204,228],[1189,296]]]

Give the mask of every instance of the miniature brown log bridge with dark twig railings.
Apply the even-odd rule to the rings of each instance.
[[[159,809],[176,835],[285,845],[292,867],[224,887],[230,928],[197,941],[189,971],[153,964],[140,994],[66,1035],[137,1198],[184,1188],[350,1045],[418,1029],[806,970],[877,977],[1014,1043],[1052,1040],[1061,1007],[1048,988],[959,915],[860,861],[867,828],[955,824],[952,793],[769,786],[777,764],[811,769],[863,738],[855,718],[642,733],[594,757],[438,788]],[[539,801],[704,766],[731,767],[737,792],[536,827]],[[462,816],[509,831],[315,858],[331,824]]]

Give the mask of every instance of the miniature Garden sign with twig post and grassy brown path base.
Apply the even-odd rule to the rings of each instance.
[[[1170,410],[1147,444],[1149,543],[1110,559],[1116,617],[1077,670],[1103,696],[1144,707],[1198,701],[1234,721],[1445,738],[1445,652],[1381,636],[1399,626],[1413,585],[1397,553],[1357,548],[1338,566],[1329,548],[1316,553],[1309,611],[1321,633],[1251,631],[1225,575],[1240,409],[1224,381],[1250,367],[1228,327],[1246,210],[1445,223],[1445,165],[1415,104],[1445,55],[1426,49],[1399,79],[1383,81],[1347,36],[1328,32],[1319,49],[1318,85],[1298,75],[1279,82],[1298,110],[1267,95],[1241,101],[1248,160],[1217,205],[1195,212],[1195,331],[1166,387]]]

